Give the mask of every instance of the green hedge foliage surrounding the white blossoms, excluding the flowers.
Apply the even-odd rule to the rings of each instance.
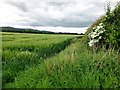
[[[97,29],[94,28],[99,27],[99,24],[103,24],[104,33],[100,34],[97,38],[102,37],[100,40],[91,40],[89,38],[89,34],[94,36],[94,33],[97,34]],[[101,30],[102,31],[102,30]],[[92,33],[93,32],[93,33]],[[108,48],[120,48],[120,3],[118,3],[113,11],[111,11],[110,4],[107,4],[106,14],[96,20],[93,25],[88,28],[87,32],[84,35],[83,42],[86,46],[94,41],[94,49],[99,49],[101,47]],[[99,42],[98,42],[99,41]]]

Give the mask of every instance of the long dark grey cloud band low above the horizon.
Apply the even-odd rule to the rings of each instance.
[[[74,21],[71,19],[62,19],[61,21],[52,20],[52,19],[45,19],[45,20],[38,20],[38,21],[31,21],[29,24],[31,26],[62,26],[62,27],[88,27],[90,24],[94,22],[94,20],[88,21]]]

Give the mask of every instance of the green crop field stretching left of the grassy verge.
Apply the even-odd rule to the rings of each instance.
[[[78,35],[2,33],[3,85],[42,59],[58,54]],[[81,36],[79,36],[81,37]]]

